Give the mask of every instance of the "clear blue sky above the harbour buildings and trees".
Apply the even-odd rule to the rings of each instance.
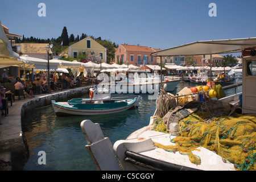
[[[39,17],[39,3],[46,16]],[[209,16],[216,4],[216,15]],[[238,0],[13,0],[0,2],[0,20],[13,34],[58,38],[101,36],[116,44],[171,48],[197,40],[255,37],[256,1]]]

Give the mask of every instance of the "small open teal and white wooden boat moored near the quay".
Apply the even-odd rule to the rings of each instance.
[[[129,102],[115,102],[106,104],[76,104],[69,105],[68,102],[52,101],[55,114],[59,117],[72,115],[104,115],[119,113],[121,111],[136,109],[141,96]]]

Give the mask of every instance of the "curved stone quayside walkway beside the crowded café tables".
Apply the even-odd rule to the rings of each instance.
[[[9,160],[10,153],[13,151],[24,150],[24,143],[22,137],[22,114],[27,110],[31,110],[34,107],[49,105],[51,100],[60,100],[61,98],[69,98],[75,95],[88,92],[89,86],[81,86],[74,89],[64,89],[63,91],[52,92],[51,94],[38,94],[34,98],[15,98],[13,106],[9,104],[9,114],[1,116],[0,125],[0,162],[2,160]]]

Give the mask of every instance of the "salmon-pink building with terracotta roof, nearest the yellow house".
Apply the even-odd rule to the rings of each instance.
[[[125,64],[145,64],[156,65],[156,57],[151,57],[150,53],[159,49],[152,49],[146,46],[132,46],[126,44],[119,44],[119,47],[115,51],[115,63],[121,61]]]

